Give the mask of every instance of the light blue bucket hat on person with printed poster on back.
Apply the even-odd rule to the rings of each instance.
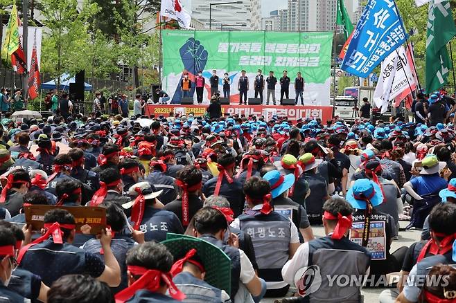
[[[365,210],[369,200],[372,207],[376,207],[383,202],[383,194],[380,187],[369,179],[358,179],[347,192],[347,201],[358,210]]]

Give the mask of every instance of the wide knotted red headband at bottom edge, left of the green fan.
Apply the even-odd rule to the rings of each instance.
[[[162,273],[159,270],[143,268],[141,266],[127,266],[127,270],[132,275],[141,275],[141,277],[132,285],[128,286],[128,288],[125,288],[123,291],[116,294],[116,303],[126,302],[134,295],[134,293],[141,289],[147,289],[148,291],[154,293],[160,288],[161,281],[164,281],[166,285],[168,285],[168,291],[173,299],[182,301],[186,297],[184,293],[179,291],[179,289],[175,286],[169,273]]]

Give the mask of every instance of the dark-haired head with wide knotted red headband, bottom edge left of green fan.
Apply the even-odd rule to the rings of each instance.
[[[163,244],[146,242],[127,254],[128,288],[116,294],[116,302],[179,302],[185,295],[170,275],[173,255]],[[166,292],[170,297],[166,296]]]

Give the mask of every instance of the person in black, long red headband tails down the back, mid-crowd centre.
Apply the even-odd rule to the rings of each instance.
[[[236,171],[236,158],[231,154],[222,154],[217,159],[217,167],[220,174],[204,183],[202,192],[204,196],[212,194],[225,196],[231,205],[234,217],[238,217],[243,212],[245,199],[243,185],[233,179]]]

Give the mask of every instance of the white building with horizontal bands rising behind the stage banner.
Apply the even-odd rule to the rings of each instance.
[[[212,29],[220,28],[221,24],[232,26],[245,24],[244,30],[261,29],[261,0],[243,0],[242,3],[220,4],[226,0],[193,0],[192,17],[202,21],[205,28],[209,28],[211,3]],[[229,27],[227,26],[227,27]]]

